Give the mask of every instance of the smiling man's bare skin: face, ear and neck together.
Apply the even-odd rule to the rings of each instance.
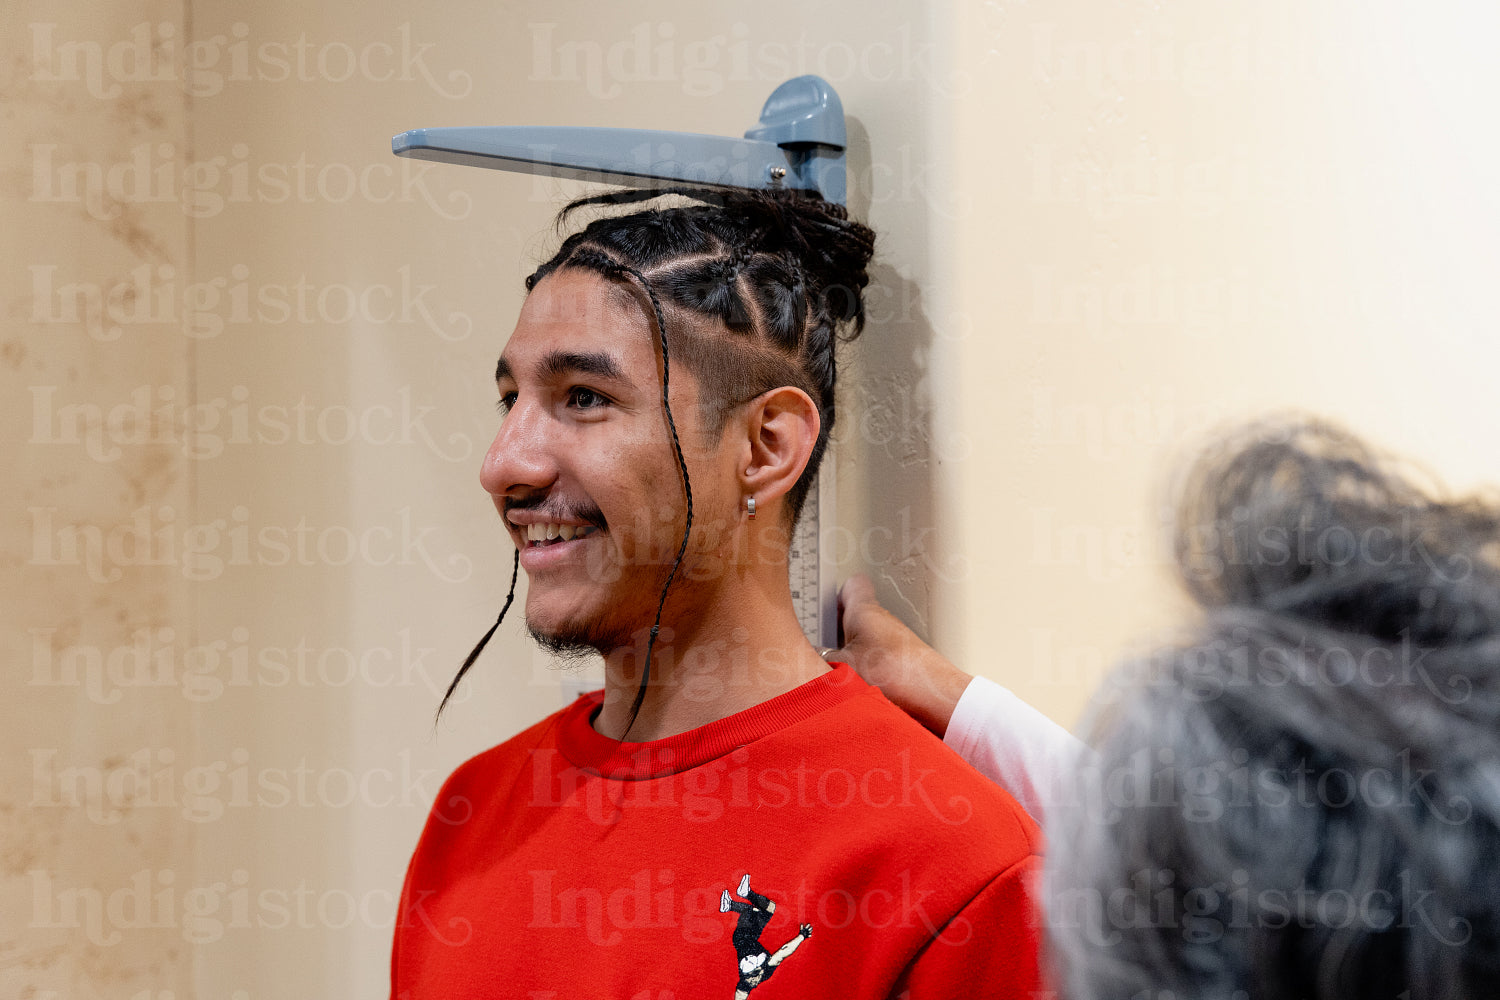
[[[537,283],[496,366],[507,415],[480,475],[520,552],[532,637],[554,652],[603,654],[615,667],[608,676],[620,697],[604,700],[597,729],[616,738],[627,726],[646,738],[693,729],[828,670],[792,607],[788,525],[778,517],[778,498],[818,441],[818,408],[806,391],[776,387],[754,406],[717,412],[722,403],[704,399],[696,379],[680,370],[676,447],[693,472],[696,525],[664,619],[674,651],[710,655],[670,669],[664,655],[657,658],[660,682],[648,688],[642,717],[633,726],[626,717],[638,693],[632,661],[642,622],[654,618],[682,535],[682,478],[650,313],[638,285],[580,267]],[[738,424],[732,436],[730,417]],[[748,498],[759,498],[765,514],[740,525]],[[777,564],[783,568],[772,573]],[[730,567],[741,571],[728,573]],[[753,577],[764,586],[747,586]],[[747,663],[776,666],[780,679],[670,696],[686,675],[717,676],[712,652],[730,645]]]

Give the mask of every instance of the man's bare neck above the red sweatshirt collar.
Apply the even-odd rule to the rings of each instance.
[[[663,616],[639,715],[630,721],[640,684],[638,654],[644,649],[614,651],[604,657],[604,705],[594,729],[612,739],[628,736],[630,742],[664,739],[818,678],[828,664],[802,634],[790,598],[789,588],[770,594],[750,589],[688,622]]]

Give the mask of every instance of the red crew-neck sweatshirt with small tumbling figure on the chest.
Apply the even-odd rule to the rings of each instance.
[[[849,667],[648,744],[603,693],[444,784],[396,1000],[1030,997],[1036,825]]]

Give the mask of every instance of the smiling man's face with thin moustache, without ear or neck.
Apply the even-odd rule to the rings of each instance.
[[[634,642],[681,541],[682,480],[656,336],[628,286],[566,268],[532,288],[496,367],[508,412],[480,483],[520,549],[526,625],[561,648]],[[696,403],[692,373],[674,366],[672,414],[694,507],[712,504],[714,492],[694,462]]]

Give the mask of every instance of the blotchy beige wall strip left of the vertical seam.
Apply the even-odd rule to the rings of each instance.
[[[177,204],[136,198],[124,171],[112,195],[106,175],[135,150],[183,162],[189,126],[176,87],[56,81],[69,75],[62,55],[32,58],[69,39],[129,39],[146,21],[182,37],[180,9],[150,0],[21,3],[0,15],[10,136],[0,174],[9,501],[0,994],[9,997],[180,993],[190,982],[182,937],[132,907],[195,871],[198,829],[150,805],[152,777],[195,756],[195,712],[174,687],[150,684],[148,661],[194,631],[188,588],[150,544],[168,519],[194,514],[194,471],[162,442],[153,414],[162,400],[192,397],[192,345],[150,303],[106,292],[129,288],[140,268],[178,279],[189,270],[192,226]],[[122,67],[130,51],[126,42]],[[98,196],[70,187],[75,168],[93,172]],[[114,321],[110,306],[140,322]],[[150,396],[141,409],[130,405],[136,391]],[[111,676],[144,684],[120,690]],[[111,894],[123,919],[105,912]]]

